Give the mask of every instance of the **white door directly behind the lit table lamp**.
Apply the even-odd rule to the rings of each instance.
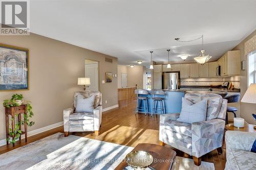
[[[91,85],[87,90],[99,90],[98,63],[86,64],[86,77],[91,79]]]

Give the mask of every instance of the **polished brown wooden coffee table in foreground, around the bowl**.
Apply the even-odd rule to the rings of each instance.
[[[145,151],[150,153],[154,162],[151,167],[156,170],[161,169],[172,169],[173,162],[176,157],[176,152],[172,149],[160,146],[158,144],[150,144],[150,143],[139,143],[131,152],[133,151]],[[123,170],[127,165],[127,163],[123,160],[115,169]]]

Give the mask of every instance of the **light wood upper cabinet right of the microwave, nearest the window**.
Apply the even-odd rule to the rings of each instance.
[[[228,51],[219,60],[221,66],[221,76],[238,76],[240,75],[240,50]]]

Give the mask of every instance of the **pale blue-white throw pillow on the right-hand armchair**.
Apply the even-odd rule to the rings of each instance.
[[[180,117],[177,119],[179,122],[194,123],[204,121],[206,118],[207,99],[204,99],[196,104],[182,98],[182,108]]]

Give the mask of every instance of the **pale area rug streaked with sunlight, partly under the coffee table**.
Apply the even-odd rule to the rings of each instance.
[[[0,155],[1,169],[114,169],[133,150],[109,143],[62,133],[42,138]],[[213,163],[194,165],[193,160],[179,159],[173,170],[214,169]]]

